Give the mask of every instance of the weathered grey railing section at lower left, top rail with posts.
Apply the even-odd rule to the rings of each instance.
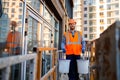
[[[27,54],[27,55],[18,55],[18,56],[9,56],[9,57],[3,57],[0,58],[0,69],[4,69],[4,75],[2,75],[2,80],[9,80],[10,73],[11,73],[11,66],[23,63],[27,60],[33,60],[33,79],[35,80],[35,72],[36,72],[36,54]],[[24,78],[21,78],[21,80],[24,80]]]

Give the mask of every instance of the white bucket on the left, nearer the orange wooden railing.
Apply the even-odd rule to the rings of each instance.
[[[69,73],[70,60],[59,60],[59,72]]]

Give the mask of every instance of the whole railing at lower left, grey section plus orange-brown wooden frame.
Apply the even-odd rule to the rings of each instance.
[[[51,51],[51,67],[48,72],[42,75],[42,53],[44,51]],[[17,55],[17,56],[9,56],[0,58],[0,70],[4,69],[4,74],[2,75],[2,80],[9,80],[11,76],[11,66],[15,64],[22,63],[26,64],[26,61],[32,61],[32,71],[29,70],[28,76],[27,73],[24,74],[24,78],[21,77],[21,80],[27,80],[26,77],[30,77],[28,80],[57,80],[57,67],[58,67],[58,54],[61,51],[58,51],[56,48],[38,48],[37,54],[26,54],[26,55]],[[23,65],[22,65],[23,66]],[[24,67],[26,68],[26,67]],[[25,69],[26,70],[26,69]],[[23,71],[24,72],[24,71]],[[23,75],[21,73],[21,75]]]

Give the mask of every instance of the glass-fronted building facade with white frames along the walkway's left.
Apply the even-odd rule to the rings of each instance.
[[[11,21],[17,23],[15,32],[21,35],[16,38],[20,39],[20,55],[34,53],[34,49],[39,47],[60,49],[62,34],[67,30],[68,19],[73,14],[72,8],[73,0],[2,0],[0,57],[3,57],[3,53],[9,54],[6,44],[9,43],[7,42],[8,33],[13,33]],[[51,51],[42,53],[42,76],[52,65],[51,53]],[[29,62],[24,67],[29,72],[28,65]],[[21,80],[23,80],[23,75],[24,72],[21,71]],[[30,80],[30,76],[27,76],[26,80]]]

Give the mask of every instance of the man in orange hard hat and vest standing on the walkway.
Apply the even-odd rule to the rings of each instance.
[[[85,52],[85,41],[82,38],[82,34],[75,30],[76,21],[69,19],[70,30],[64,33],[61,42],[61,49],[63,53],[66,53],[66,59],[70,61],[69,80],[79,80],[79,74],[77,71],[77,59],[81,58],[81,53]]]

